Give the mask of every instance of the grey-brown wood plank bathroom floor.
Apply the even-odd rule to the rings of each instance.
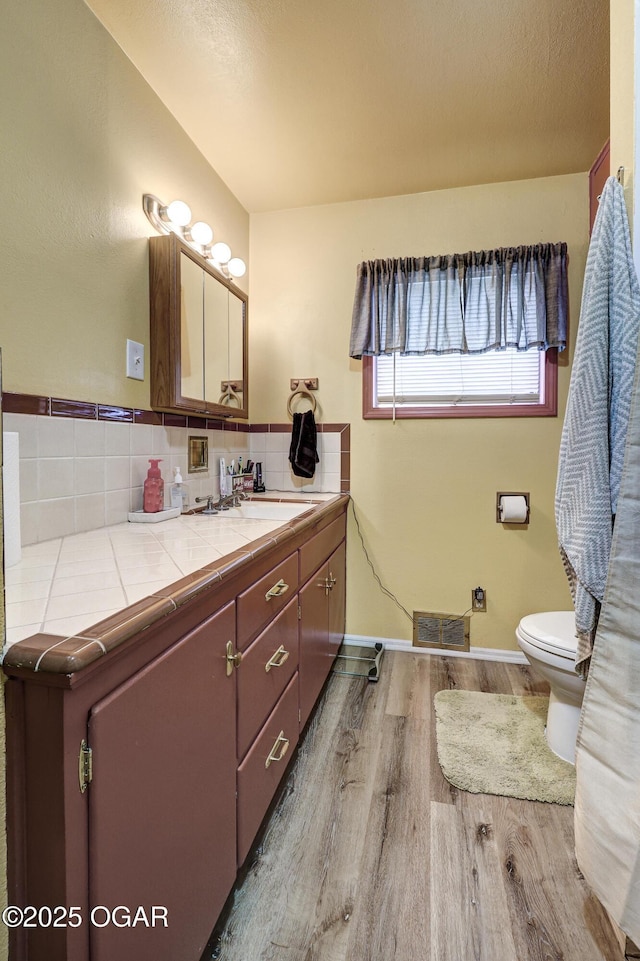
[[[573,808],[458,791],[433,695],[546,693],[527,667],[386,653],[333,676],[204,957],[621,961],[573,854]]]

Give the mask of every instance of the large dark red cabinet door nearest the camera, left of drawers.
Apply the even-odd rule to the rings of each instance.
[[[198,961],[236,874],[235,605],[89,719],[91,961]],[[109,912],[119,907],[115,919]],[[138,914],[142,908],[147,924]],[[163,912],[166,909],[166,926]]]

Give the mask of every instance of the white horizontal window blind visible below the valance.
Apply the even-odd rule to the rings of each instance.
[[[376,407],[539,404],[543,393],[544,351],[376,358]]]

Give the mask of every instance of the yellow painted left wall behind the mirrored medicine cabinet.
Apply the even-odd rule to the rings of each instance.
[[[186,200],[245,260],[248,215],[82,0],[6,6],[0,86],[4,388],[148,407],[148,375],[125,377],[127,338],[148,370],[142,195]]]

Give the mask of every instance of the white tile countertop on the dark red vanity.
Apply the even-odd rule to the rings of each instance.
[[[243,504],[294,501],[311,509],[344,499],[347,495],[279,497],[267,492]],[[132,605],[134,612],[141,601],[147,602],[148,610],[148,602],[162,591],[161,616],[167,612],[168,586],[186,575],[223,568],[227,555],[246,552],[250,557],[254,541],[297,519],[231,515],[233,511],[213,516],[191,512],[155,524],[116,524],[23,547],[21,561],[5,572],[4,656],[14,644],[35,634],[53,635],[52,646],[60,638],[89,634],[92,644],[100,644],[95,640],[97,622]],[[171,609],[175,606],[167,610]]]

